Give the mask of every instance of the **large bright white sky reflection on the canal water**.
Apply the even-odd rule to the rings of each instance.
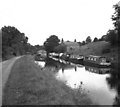
[[[77,71],[74,68],[66,69],[64,72],[59,70],[56,77],[58,80],[66,82],[73,89],[79,88],[82,82],[82,89],[88,92],[90,98],[95,103],[111,105],[114,102],[116,92],[109,89],[106,82],[106,77],[109,77],[109,74],[99,75],[93,72],[87,72],[84,67],[77,67]]]

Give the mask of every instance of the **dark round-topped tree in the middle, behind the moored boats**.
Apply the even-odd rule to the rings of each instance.
[[[44,47],[47,52],[47,56],[50,52],[54,52],[54,48],[59,45],[60,39],[56,35],[51,35],[44,42]]]

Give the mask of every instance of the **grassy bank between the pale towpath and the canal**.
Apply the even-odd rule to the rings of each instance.
[[[3,96],[3,105],[89,105],[81,90],[72,90],[42,70],[31,56],[18,59],[12,68]]]

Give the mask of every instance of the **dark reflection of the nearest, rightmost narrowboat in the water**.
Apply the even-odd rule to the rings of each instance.
[[[97,68],[97,67],[90,67],[85,66],[86,71],[97,73],[97,74],[108,74],[110,73],[111,68]]]

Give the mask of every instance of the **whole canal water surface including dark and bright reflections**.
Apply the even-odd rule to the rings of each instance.
[[[49,59],[39,61],[44,67],[54,67],[57,80],[64,82],[72,89],[79,89],[88,94],[93,103],[99,105],[113,105],[119,103],[119,90],[114,83],[117,74],[111,74],[111,68],[93,68],[65,61]]]

